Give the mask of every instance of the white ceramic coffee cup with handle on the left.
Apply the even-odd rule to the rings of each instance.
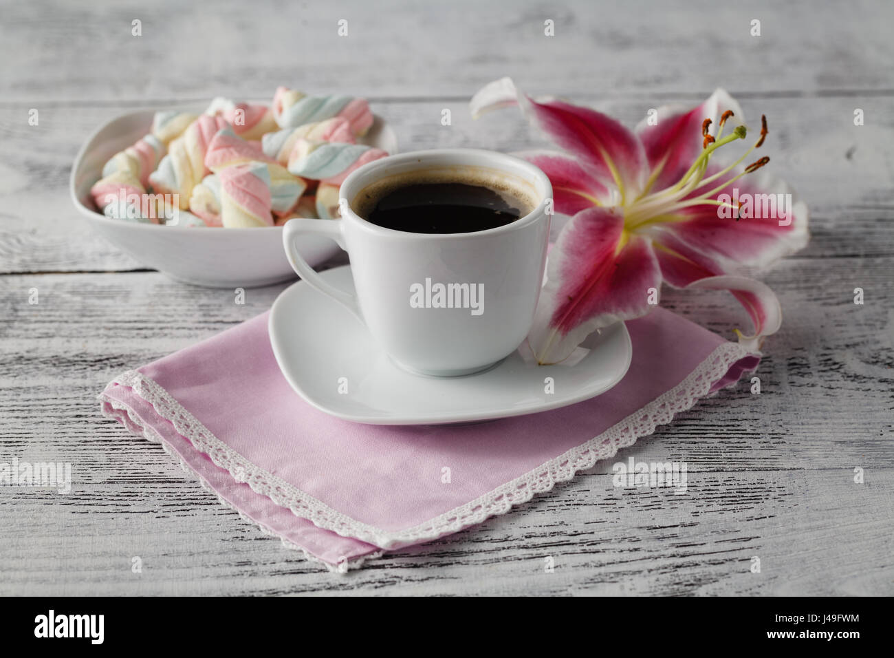
[[[419,170],[495,175],[529,191],[536,207],[504,226],[454,234],[398,231],[358,216],[359,192]],[[341,220],[295,218],[285,225],[285,252],[300,277],[353,312],[392,361],[417,374],[458,376],[516,350],[534,320],[549,241],[552,186],[539,168],[487,150],[417,151],[359,167],[339,196]],[[299,235],[325,235],[348,252],[356,295],[330,285],[304,261]]]

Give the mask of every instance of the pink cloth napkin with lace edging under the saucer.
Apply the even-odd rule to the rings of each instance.
[[[283,379],[266,313],[124,373],[100,400],[224,504],[343,571],[549,491],[760,360],[661,308],[628,330],[633,363],[614,389],[492,423],[362,425],[318,411]]]

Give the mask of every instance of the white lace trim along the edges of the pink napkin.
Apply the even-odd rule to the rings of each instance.
[[[755,353],[737,343],[723,343],[717,346],[712,354],[700,363],[685,380],[655,398],[636,413],[628,415],[620,423],[611,426],[602,434],[569,449],[559,457],[550,459],[515,480],[502,484],[476,500],[451,509],[426,523],[398,531],[386,531],[348,517],[307,492],[301,491],[274,474],[252,464],[215,437],[166,390],[142,373],[125,372],[115,379],[114,383],[133,389],[139,397],[154,406],[157,414],[170,421],[177,432],[189,440],[195,449],[210,457],[216,466],[228,471],[236,482],[248,483],[252,491],[266,496],[281,507],[291,509],[295,516],[307,518],[314,525],[325,530],[345,537],[353,537],[382,549],[393,549],[401,545],[420,543],[436,539],[444,534],[458,532],[468,526],[481,523],[488,517],[505,514],[510,508],[531,500],[536,493],[550,491],[556,483],[570,480],[578,471],[591,468],[597,461],[612,457],[619,449],[632,446],[637,438],[652,434],[656,426],[670,423],[674,415],[686,411],[700,397],[708,395],[713,383],[729,372],[733,363],[748,355],[755,355]],[[734,383],[731,382],[730,385]],[[137,415],[127,406],[111,399],[105,393],[100,394],[99,399],[103,403],[105,416],[121,421],[130,432],[137,436],[161,443],[166,451],[173,454],[161,436],[151,427],[139,423]],[[177,458],[180,460],[179,457]],[[180,462],[184,470],[195,474],[182,460]],[[207,489],[211,489],[201,476],[199,476],[199,481]],[[232,508],[232,505],[220,496],[218,496],[218,500]],[[267,534],[276,534],[270,528],[258,524],[257,521],[245,517],[241,513],[240,516],[259,526]],[[289,548],[303,551],[308,559],[322,561],[316,560],[308,551],[294,543],[282,537],[281,539],[283,544]],[[327,562],[324,564],[332,570],[346,571],[349,568],[358,568],[363,560],[375,558],[381,554],[382,551],[376,551],[363,558],[341,562],[336,566]]]

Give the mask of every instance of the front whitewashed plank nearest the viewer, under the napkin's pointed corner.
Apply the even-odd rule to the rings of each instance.
[[[583,475],[523,511],[343,576],[283,549],[198,484],[0,491],[0,594],[890,595],[894,471],[867,471],[863,485],[851,476],[698,473],[677,495]]]

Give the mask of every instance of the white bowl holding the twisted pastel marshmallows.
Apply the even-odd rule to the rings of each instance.
[[[199,114],[204,108],[194,111]],[[190,110],[186,110],[190,111]],[[283,227],[187,228],[141,224],[107,218],[92,209],[90,187],[101,177],[106,160],[149,132],[155,110],[118,116],[94,132],[72,167],[72,201],[105,239],[150,268],[184,283],[210,287],[269,286],[297,278],[283,252]],[[394,153],[397,139],[381,117],[360,141]],[[339,251],[329,238],[305,236],[299,251],[312,265]]]

